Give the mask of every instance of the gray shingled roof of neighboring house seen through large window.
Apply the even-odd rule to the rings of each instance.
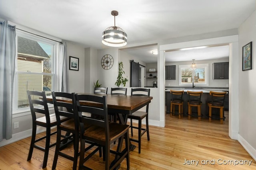
[[[50,58],[42,47],[34,40],[18,36],[18,54],[29,57]]]

